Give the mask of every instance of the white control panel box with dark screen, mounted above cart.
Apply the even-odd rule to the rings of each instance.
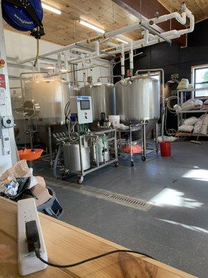
[[[78,124],[89,124],[92,118],[92,97],[77,96],[70,98],[71,115],[76,114]]]

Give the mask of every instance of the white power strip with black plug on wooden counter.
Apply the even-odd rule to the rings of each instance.
[[[40,237],[40,255],[42,259],[48,261],[46,246],[40,227],[40,220],[35,206],[35,199],[22,199],[17,202],[17,243],[18,243],[18,265],[19,274],[28,275],[33,272],[44,270],[47,265],[37,259],[35,252],[28,252],[28,244],[26,241],[26,222],[35,220]]]

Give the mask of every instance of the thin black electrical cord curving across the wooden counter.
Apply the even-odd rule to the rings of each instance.
[[[50,263],[49,261],[45,261],[44,259],[42,259],[42,257],[40,256],[40,250],[39,250],[37,244],[35,243],[35,255],[37,256],[37,258],[40,259],[40,261],[42,261],[42,263],[46,263],[46,265],[50,265],[50,266],[53,266],[55,268],[73,268],[74,266],[82,265],[83,263],[88,263],[89,261],[94,261],[96,259],[102,258],[103,256],[108,256],[108,255],[111,255],[111,254],[114,254],[114,253],[133,253],[133,254],[139,254],[139,255],[142,255],[142,256],[146,256],[150,259],[154,259],[152,256],[148,256],[147,254],[144,254],[144,253],[141,253],[141,252],[138,252],[138,251],[122,250],[121,249],[121,250],[113,250],[113,251],[110,251],[110,252],[106,252],[106,253],[103,253],[103,254],[98,255],[98,256],[93,256],[92,258],[85,259],[83,261],[78,261],[77,263],[70,263],[68,265],[58,265],[56,263]]]

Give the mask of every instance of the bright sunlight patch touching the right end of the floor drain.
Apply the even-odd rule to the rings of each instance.
[[[203,203],[197,202],[196,199],[189,199],[184,197],[184,193],[171,189],[165,188],[153,199],[150,199],[155,206],[182,206],[185,208],[198,208]]]

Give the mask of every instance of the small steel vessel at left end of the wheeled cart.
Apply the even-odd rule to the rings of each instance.
[[[63,145],[64,150],[64,166],[71,172],[80,172],[80,148],[78,144],[65,143]],[[90,167],[89,160],[89,147],[81,147],[83,156],[83,170],[87,170]]]

